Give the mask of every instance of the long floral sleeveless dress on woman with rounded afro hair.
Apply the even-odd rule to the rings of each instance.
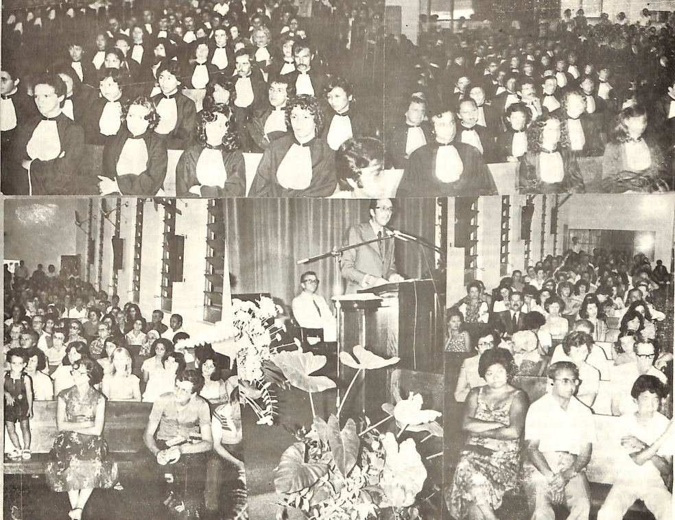
[[[509,424],[511,403],[516,395],[494,410],[484,401],[484,387],[478,393],[475,418]],[[520,440],[499,440],[470,436],[455,469],[455,479],[449,497],[450,514],[457,520],[469,515],[469,502],[488,504],[497,510],[506,491],[517,486],[520,469]]]

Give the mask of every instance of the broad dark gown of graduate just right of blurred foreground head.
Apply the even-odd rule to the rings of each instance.
[[[410,197],[455,197],[494,195],[497,185],[482,154],[455,137],[452,145],[462,160],[463,170],[455,182],[443,182],[436,176],[436,156],[442,145],[433,141],[410,154],[399,185],[399,193]]]

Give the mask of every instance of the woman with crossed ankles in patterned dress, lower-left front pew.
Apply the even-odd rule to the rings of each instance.
[[[108,445],[103,426],[106,398],[93,387],[103,379],[101,366],[82,357],[72,365],[75,386],[58,394],[56,428],[58,436],[47,464],[47,482],[57,493],[68,492],[73,520],[94,488],[111,488],[117,482],[117,464],[106,460]]]

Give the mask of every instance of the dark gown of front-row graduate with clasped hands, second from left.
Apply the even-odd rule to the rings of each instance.
[[[147,163],[145,170],[139,175],[118,175],[117,161],[126,140],[132,137],[131,132],[123,127],[112,137],[103,149],[102,176],[117,179],[122,195],[154,196],[164,184],[167,176],[167,142],[161,135],[146,131],[140,139],[145,142]]]

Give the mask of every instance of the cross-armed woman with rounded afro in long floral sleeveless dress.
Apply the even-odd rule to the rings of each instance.
[[[464,432],[469,439],[460,453],[446,503],[457,520],[496,520],[506,491],[517,486],[521,435],[528,395],[510,384],[515,366],[505,348],[481,356],[478,373],[487,384],[469,392],[464,408]]]

